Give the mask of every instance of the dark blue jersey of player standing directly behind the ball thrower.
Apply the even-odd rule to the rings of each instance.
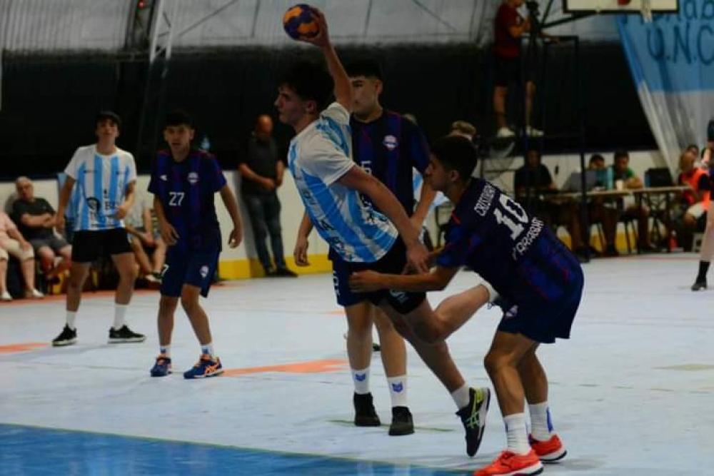
[[[429,165],[429,146],[421,129],[386,109],[379,118],[368,123],[352,116],[350,127],[354,161],[386,185],[411,216],[414,211],[412,168],[423,173]]]

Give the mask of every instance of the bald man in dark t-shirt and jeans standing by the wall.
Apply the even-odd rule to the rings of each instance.
[[[248,153],[238,161],[238,171],[243,176],[242,195],[253,227],[256,253],[266,276],[296,277],[288,269],[283,253],[283,235],[280,226],[280,200],[278,187],[283,183],[285,163],[278,156],[278,146],[271,137],[273,120],[270,116],[258,116],[256,128],[248,141]],[[273,260],[266,238],[270,236]]]

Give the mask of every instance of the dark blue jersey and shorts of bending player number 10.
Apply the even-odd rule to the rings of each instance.
[[[499,330],[542,343],[568,338],[583,293],[583,270],[538,218],[488,181],[473,178],[451,215],[437,258],[466,265],[491,283],[504,310]]]

